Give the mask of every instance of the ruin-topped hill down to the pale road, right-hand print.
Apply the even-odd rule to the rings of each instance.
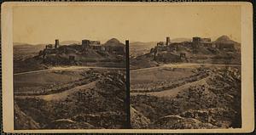
[[[131,69],[168,63],[241,64],[240,43],[227,36],[216,41],[205,37],[192,37],[191,42],[157,42],[148,53],[131,59]]]

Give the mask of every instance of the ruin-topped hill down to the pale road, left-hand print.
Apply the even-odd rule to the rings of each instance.
[[[101,43],[84,39],[82,43],[44,45],[35,56],[15,61],[15,71],[42,70],[52,66],[113,66],[125,68],[125,44],[116,38]]]

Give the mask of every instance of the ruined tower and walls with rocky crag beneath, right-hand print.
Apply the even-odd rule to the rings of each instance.
[[[202,37],[193,37],[191,42],[171,42],[170,37],[166,37],[166,42],[157,42],[150,50],[153,59],[160,62],[188,62],[193,57],[200,56],[207,59],[211,55],[229,52],[236,53],[235,43],[212,42],[211,38]]]

